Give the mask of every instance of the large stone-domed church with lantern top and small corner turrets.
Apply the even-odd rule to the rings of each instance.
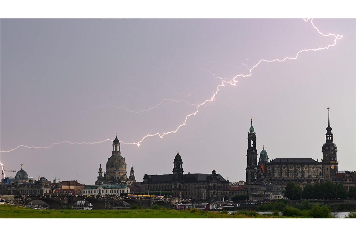
[[[112,155],[106,162],[106,172],[103,175],[101,164],[98,172],[98,179],[95,184],[127,184],[135,183],[135,172],[131,164],[130,176],[127,177],[125,157],[121,156],[120,141],[116,138],[112,142]]]

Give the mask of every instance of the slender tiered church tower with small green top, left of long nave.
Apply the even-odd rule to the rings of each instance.
[[[257,148],[256,148],[256,132],[252,126],[248,133],[248,148],[247,148],[247,167],[246,167],[246,182],[253,184],[257,182]]]

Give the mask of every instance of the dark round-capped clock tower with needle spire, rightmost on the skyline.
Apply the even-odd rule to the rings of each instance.
[[[326,142],[321,148],[321,152],[323,152],[324,179],[334,181],[336,179],[337,164],[339,162],[336,160],[337,147],[336,144],[333,142],[334,139],[331,130],[332,128],[330,127],[330,114],[328,108],[328,127],[326,128],[325,133]]]

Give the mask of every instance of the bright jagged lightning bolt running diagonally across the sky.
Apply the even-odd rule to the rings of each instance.
[[[216,91],[214,92],[213,96],[211,96],[209,99],[206,99],[203,103],[200,103],[198,105],[194,105],[194,106],[197,106],[197,109],[195,110],[195,112],[191,113],[191,114],[188,114],[186,117],[185,117],[185,120],[182,124],[180,124],[175,130],[171,130],[171,131],[168,131],[168,132],[164,132],[164,133],[155,133],[155,134],[147,134],[146,136],[144,136],[140,141],[138,142],[130,142],[130,143],[126,143],[126,142],[122,142],[123,144],[126,144],[126,145],[137,145],[138,147],[141,145],[141,142],[143,142],[146,138],[148,137],[152,137],[152,136],[159,136],[159,138],[163,138],[165,135],[168,135],[168,134],[171,134],[171,133],[176,133],[182,126],[186,125],[187,123],[187,120],[189,117],[193,116],[193,115],[196,115],[198,112],[199,112],[199,109],[201,106],[205,106],[205,105],[208,105],[212,102],[214,102],[215,100],[215,97],[216,95],[218,95],[219,91],[220,91],[220,88],[221,87],[225,87],[225,85],[231,85],[231,86],[236,86],[237,84],[237,78],[238,77],[250,77],[252,75],[252,71],[257,68],[258,65],[260,65],[261,63],[273,63],[273,62],[284,62],[286,61],[287,59],[288,60],[296,60],[299,56],[299,54],[303,53],[303,52],[309,52],[309,51],[313,51],[313,52],[317,52],[317,51],[320,51],[320,50],[324,50],[324,49],[329,49],[330,47],[333,47],[336,45],[336,41],[338,39],[342,39],[342,35],[335,35],[333,33],[328,33],[328,34],[324,34],[324,33],[321,33],[319,31],[319,29],[314,25],[313,23],[313,19],[310,19],[310,18],[306,18],[306,19],[303,19],[304,22],[308,22],[310,20],[310,23],[312,24],[313,28],[318,31],[318,33],[321,35],[321,36],[324,36],[324,37],[329,37],[329,36],[333,36],[334,37],[334,43],[332,44],[329,44],[328,46],[326,47],[319,47],[319,48],[314,48],[314,49],[302,49],[300,50],[299,52],[297,52],[295,54],[294,57],[286,57],[286,58],[283,58],[283,59],[273,59],[273,60],[266,60],[266,59],[261,59],[260,61],[258,61],[257,64],[255,64],[251,69],[248,69],[249,73],[248,74],[238,74],[236,75],[234,78],[232,79],[226,79],[226,78],[223,78],[223,77],[216,77],[215,74],[211,73],[213,76],[215,76],[216,78],[219,78],[221,79],[221,84],[218,85],[216,87]],[[161,102],[163,103],[163,101]],[[159,106],[159,105],[158,105]],[[155,107],[158,107],[158,106],[155,106]],[[152,107],[151,107],[152,108]],[[149,109],[148,109],[149,110]],[[147,110],[147,111],[148,111]],[[144,111],[142,111],[144,112]],[[13,151],[13,150],[16,150],[18,149],[19,147],[26,147],[26,148],[37,148],[37,149],[47,149],[47,148],[50,148],[52,147],[53,145],[57,145],[57,144],[62,144],[62,143],[69,143],[69,144],[78,144],[78,145],[81,145],[81,144],[90,144],[90,145],[93,145],[93,144],[96,144],[96,143],[101,143],[101,142],[106,142],[106,141],[111,141],[112,139],[106,139],[106,140],[103,140],[103,141],[95,141],[95,142],[70,142],[70,141],[61,141],[61,142],[57,142],[57,143],[53,143],[51,144],[50,146],[48,147],[35,147],[35,146],[25,146],[25,145],[19,145],[17,147],[15,147],[14,149],[11,149],[9,151],[0,151],[0,152],[10,152],[10,151]]]

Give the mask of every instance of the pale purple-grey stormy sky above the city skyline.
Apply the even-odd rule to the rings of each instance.
[[[185,173],[215,169],[245,180],[251,117],[258,153],[264,145],[270,160],[320,161],[328,107],[338,169],[355,170],[356,22],[313,23],[343,37],[295,60],[261,62],[235,86],[219,87],[175,133],[139,147],[121,143],[136,180],[172,173],[177,151]],[[174,131],[213,96],[220,77],[248,75],[261,59],[294,58],[334,39],[303,19],[2,19],[0,150],[111,140],[21,146],[0,152],[1,163],[15,170],[23,163],[30,177],[49,180],[78,173],[78,182],[93,184],[115,133],[132,143]]]

